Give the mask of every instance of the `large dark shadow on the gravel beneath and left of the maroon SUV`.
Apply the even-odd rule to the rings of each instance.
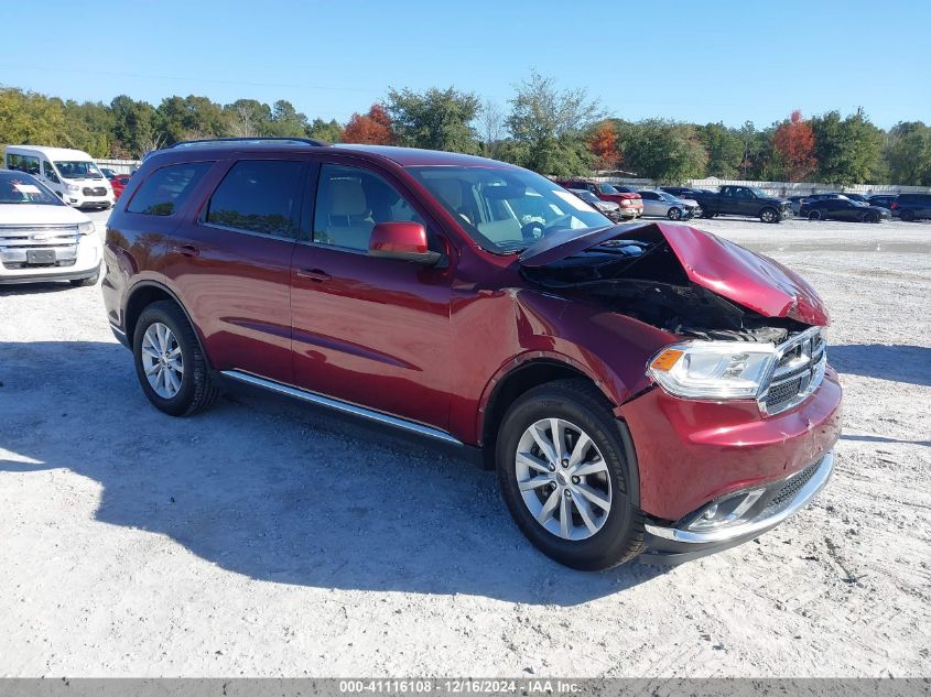
[[[172,418],[118,344],[0,344],[0,472],[57,468],[99,482],[96,520],[259,580],[572,606],[667,571],[551,562],[441,446],[255,392]]]

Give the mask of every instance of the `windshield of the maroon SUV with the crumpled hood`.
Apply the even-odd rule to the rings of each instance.
[[[522,170],[410,167],[410,173],[485,250],[523,251],[560,230],[611,225],[550,179]]]

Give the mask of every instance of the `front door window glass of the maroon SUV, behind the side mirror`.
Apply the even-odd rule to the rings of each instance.
[[[314,207],[315,242],[368,250],[372,228],[392,221],[425,225],[398,190],[377,174],[332,164],[321,167]]]

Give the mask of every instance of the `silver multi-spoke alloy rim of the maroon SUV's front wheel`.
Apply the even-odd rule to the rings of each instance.
[[[537,522],[563,540],[597,533],[611,509],[611,480],[592,438],[562,418],[543,418],[520,437],[515,472]]]

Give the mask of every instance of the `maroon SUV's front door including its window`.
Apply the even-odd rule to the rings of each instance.
[[[369,257],[367,236],[375,224],[416,220],[427,229],[430,224],[396,184],[368,170],[356,172],[361,175],[322,166],[316,241],[294,251],[294,382],[446,429],[451,266]]]

